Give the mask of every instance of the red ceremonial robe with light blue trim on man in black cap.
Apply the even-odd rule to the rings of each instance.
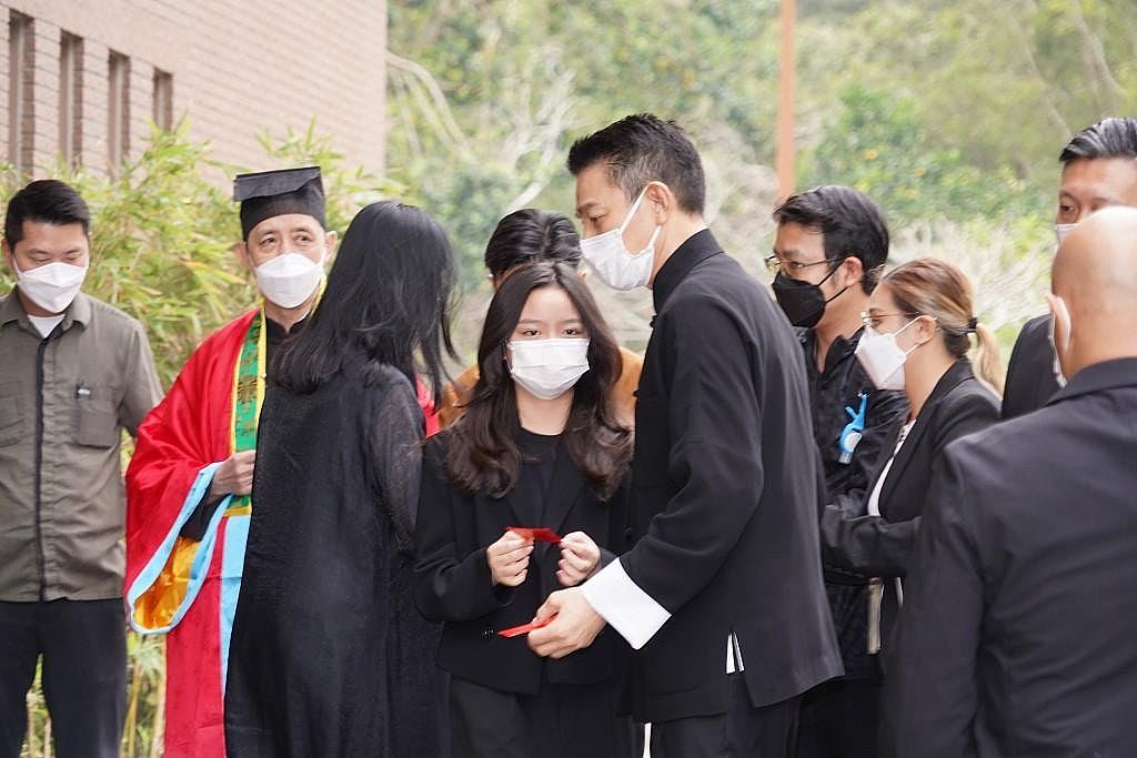
[[[166,633],[167,758],[225,755],[225,670],[249,516],[218,506],[207,534],[180,536],[217,465],[233,452],[234,372],[254,309],[206,339],[139,426],[126,472],[131,626]],[[428,435],[438,417],[418,385]]]

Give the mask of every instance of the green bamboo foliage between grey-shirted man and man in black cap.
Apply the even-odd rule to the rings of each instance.
[[[155,131],[116,177],[66,166],[52,172],[91,209],[84,291],[146,324],[167,384],[202,336],[252,298],[230,249],[240,238],[236,215],[207,178],[216,165],[206,147],[185,133],[185,123]],[[19,186],[8,176],[3,202]]]

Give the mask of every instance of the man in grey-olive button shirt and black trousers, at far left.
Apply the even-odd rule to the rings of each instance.
[[[0,758],[43,657],[56,752],[117,756],[126,695],[122,430],[161,395],[142,325],[80,292],[90,214],[67,184],[8,203],[0,299]]]

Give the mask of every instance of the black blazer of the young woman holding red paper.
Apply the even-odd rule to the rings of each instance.
[[[549,484],[546,523],[531,524],[518,514],[531,513],[496,499],[460,492],[447,482],[447,434],[426,442],[423,455],[418,523],[415,532],[415,602],[430,620],[445,622],[438,664],[456,676],[507,692],[536,693],[542,669],[549,682],[616,681],[626,668],[630,649],[605,630],[584,650],[559,660],[542,659],[524,635],[506,639],[499,630],[528,624],[554,591],[561,551],[538,543],[529,575],[517,588],[493,586],[485,548],[507,526],[548,526],[558,534],[584,532],[601,550],[601,563],[626,548],[626,486],[608,503],[600,502],[563,450]]]

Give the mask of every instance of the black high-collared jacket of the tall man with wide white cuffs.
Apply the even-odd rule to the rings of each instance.
[[[818,548],[818,453],[802,348],[771,298],[703,231],[656,276],[620,561],[670,614],[636,656],[633,707],[727,708],[736,633],[756,706],[841,673]]]

